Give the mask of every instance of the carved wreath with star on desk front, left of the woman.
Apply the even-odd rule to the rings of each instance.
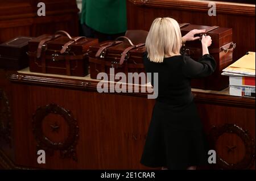
[[[53,155],[54,150],[59,150],[61,158],[68,157],[77,161],[79,127],[71,111],[57,104],[48,104],[39,107],[32,120],[38,150],[43,149],[50,155]]]

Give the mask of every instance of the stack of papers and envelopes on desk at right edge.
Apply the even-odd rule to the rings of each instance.
[[[222,71],[222,75],[229,76],[230,95],[255,98],[255,52],[246,53]]]

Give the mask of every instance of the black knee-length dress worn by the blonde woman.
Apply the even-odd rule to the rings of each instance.
[[[207,141],[193,101],[191,78],[212,74],[216,61],[205,54],[199,61],[180,55],[155,63],[148,60],[147,53],[143,61],[147,73],[158,73],[158,98],[152,111],[141,163],[148,167],[163,166],[175,170],[206,165]],[[154,81],[151,84],[154,86]]]

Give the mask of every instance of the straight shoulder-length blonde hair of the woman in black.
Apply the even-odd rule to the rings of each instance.
[[[180,54],[181,32],[172,18],[156,18],[146,39],[147,57],[152,62],[163,62],[164,57]]]

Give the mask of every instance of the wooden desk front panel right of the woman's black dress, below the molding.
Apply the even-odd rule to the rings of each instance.
[[[255,108],[196,103],[205,133],[209,139],[213,139],[210,132],[214,127],[224,127],[230,124],[230,127],[237,128],[233,132],[226,129],[224,133],[218,133],[220,128],[216,129],[217,132],[214,134],[219,135],[214,142],[210,142],[210,145],[212,149],[216,150],[218,157],[227,162],[228,165],[222,167],[224,162],[219,160],[217,161],[219,166],[213,165],[213,167],[216,169],[255,169],[253,156],[255,155],[255,146],[249,146],[255,142],[255,117],[253,117],[255,116]],[[240,134],[240,129],[245,133]],[[249,140],[243,137],[249,138]],[[242,159],[245,163],[241,165]]]

